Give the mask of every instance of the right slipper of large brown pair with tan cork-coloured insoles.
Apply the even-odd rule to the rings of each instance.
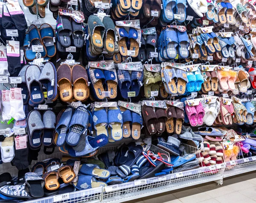
[[[71,75],[75,99],[79,101],[86,99],[88,91],[88,75],[86,70],[80,65],[74,65]]]

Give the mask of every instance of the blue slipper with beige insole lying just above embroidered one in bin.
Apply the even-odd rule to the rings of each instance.
[[[100,179],[108,179],[110,177],[110,171],[99,168],[99,165],[89,163],[80,165],[79,174],[92,175]]]

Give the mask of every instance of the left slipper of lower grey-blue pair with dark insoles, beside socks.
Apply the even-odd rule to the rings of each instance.
[[[38,110],[32,110],[27,117],[29,144],[32,148],[40,148],[42,145],[41,135],[44,129],[42,116]]]

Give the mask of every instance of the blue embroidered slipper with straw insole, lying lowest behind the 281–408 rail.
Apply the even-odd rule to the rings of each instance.
[[[78,190],[84,190],[89,188],[97,188],[100,186],[108,186],[108,184],[102,181],[97,181],[93,176],[79,175],[78,181],[73,183],[73,186]]]

